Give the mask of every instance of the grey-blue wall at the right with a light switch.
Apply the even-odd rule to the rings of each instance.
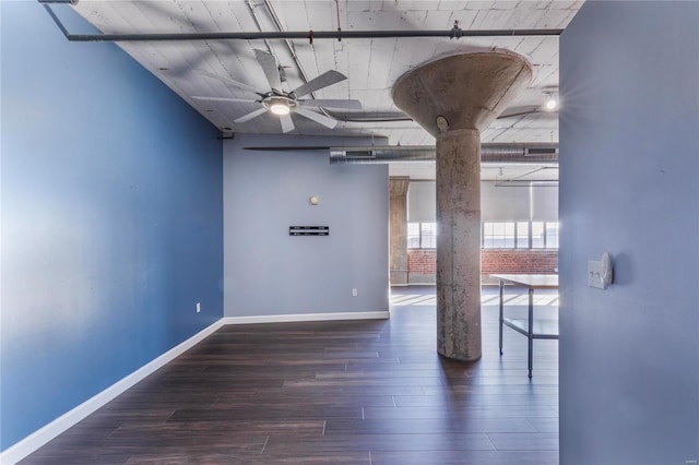
[[[587,2],[560,40],[560,462],[696,463],[699,3]]]

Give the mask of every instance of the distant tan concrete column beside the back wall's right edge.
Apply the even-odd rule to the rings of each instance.
[[[407,187],[410,178],[389,179],[390,270],[391,286],[407,284]]]

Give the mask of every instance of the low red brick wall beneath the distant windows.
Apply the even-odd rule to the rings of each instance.
[[[554,249],[484,249],[481,254],[483,283],[491,283],[494,273],[549,274],[558,270],[558,250]],[[408,283],[435,283],[435,249],[407,250]]]

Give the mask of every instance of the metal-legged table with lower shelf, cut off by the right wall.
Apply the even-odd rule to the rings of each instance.
[[[557,274],[491,274],[499,281],[500,291],[500,355],[502,355],[502,326],[509,326],[526,336],[529,342],[529,377],[532,378],[534,339],[558,339],[558,320],[534,318],[534,289],[558,289]],[[529,317],[526,320],[505,318],[502,291],[506,284],[529,290]]]

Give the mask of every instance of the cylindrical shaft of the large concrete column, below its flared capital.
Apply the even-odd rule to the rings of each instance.
[[[481,134],[437,135],[437,351],[481,357]]]

